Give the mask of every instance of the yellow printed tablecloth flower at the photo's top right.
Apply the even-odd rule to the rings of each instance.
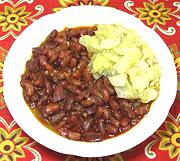
[[[152,4],[148,2],[144,2],[145,8],[136,8],[136,10],[140,13],[138,18],[140,20],[147,20],[148,25],[152,25],[153,23],[158,23],[161,25],[165,25],[166,20],[171,20],[168,16],[170,12],[170,8],[164,8],[164,3]]]

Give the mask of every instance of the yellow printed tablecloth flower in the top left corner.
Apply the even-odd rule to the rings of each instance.
[[[21,31],[21,26],[27,26],[26,17],[31,14],[31,12],[25,12],[26,7],[18,7],[16,9],[9,6],[5,6],[4,12],[0,12],[0,26],[2,26],[2,31],[6,32],[9,30]]]

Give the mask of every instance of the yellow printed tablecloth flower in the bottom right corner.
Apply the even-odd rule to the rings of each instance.
[[[160,150],[169,150],[170,158],[176,157],[180,154],[180,127],[166,121],[166,131],[158,130],[157,134],[162,139],[159,144]]]

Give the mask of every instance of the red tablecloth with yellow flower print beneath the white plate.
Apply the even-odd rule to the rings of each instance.
[[[38,144],[18,127],[4,102],[2,94],[3,61],[12,43],[28,25],[39,17],[72,5],[111,6],[138,17],[144,24],[154,29],[163,38],[174,58],[178,74],[178,92],[168,117],[152,136],[126,152],[104,158],[80,158],[53,152]],[[180,2],[175,0],[0,0],[0,161],[146,161],[150,159],[157,161],[179,161],[179,13]],[[34,36],[36,36],[35,33]],[[13,72],[13,69],[9,71],[9,74],[11,72]],[[12,89],[12,92],[16,91]]]

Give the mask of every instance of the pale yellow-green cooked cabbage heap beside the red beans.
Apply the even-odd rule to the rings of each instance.
[[[80,43],[93,54],[89,67],[94,77],[107,76],[120,98],[147,103],[158,97],[160,65],[133,29],[98,25],[95,35],[83,35]]]

